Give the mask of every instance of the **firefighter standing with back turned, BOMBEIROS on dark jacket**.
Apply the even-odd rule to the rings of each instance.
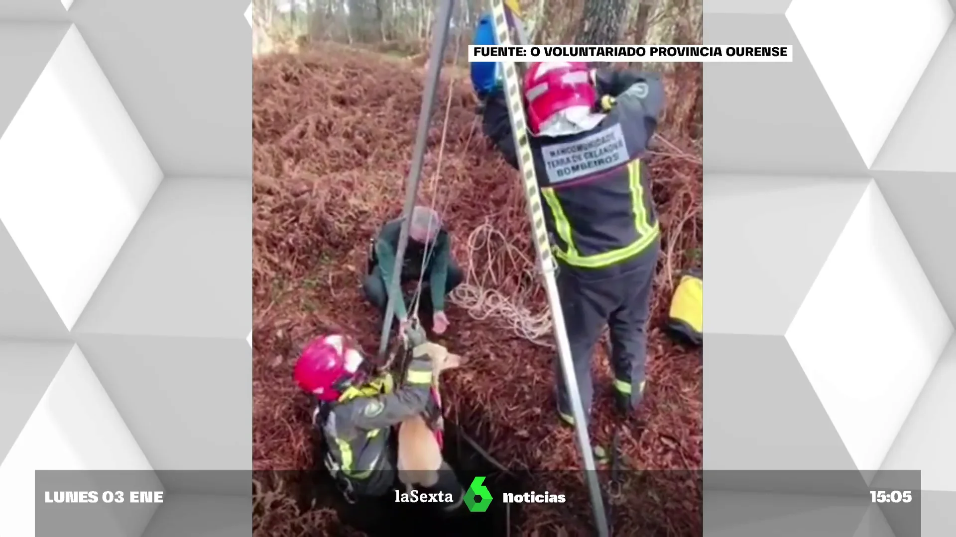
[[[501,70],[481,69],[477,76],[472,71],[472,82],[484,97],[484,133],[517,168]],[[605,326],[616,407],[632,415],[645,388],[645,325],[661,250],[642,157],[663,108],[663,85],[654,75],[538,62],[525,75],[523,94],[585,415],[594,398],[591,356]],[[557,360],[557,411],[574,424],[560,367]]]

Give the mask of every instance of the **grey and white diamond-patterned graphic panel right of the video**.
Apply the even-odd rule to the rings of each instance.
[[[705,535],[956,535],[953,3],[704,11]]]

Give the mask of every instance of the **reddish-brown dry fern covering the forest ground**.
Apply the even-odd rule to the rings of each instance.
[[[469,284],[520,299],[532,312],[545,311],[517,178],[481,135],[467,76],[449,76],[429,135],[423,200],[442,208],[456,258],[471,268]],[[700,76],[670,77],[667,87],[677,103],[671,114],[681,104],[678,97],[700,91]],[[378,317],[362,300],[360,281],[369,239],[401,213],[422,90],[422,72],[407,63],[339,47],[255,61],[256,535],[352,534],[333,510],[296,504],[295,474],[271,471],[313,467],[308,400],[292,381],[294,349],[321,333],[349,333],[370,354],[378,348]],[[701,355],[673,344],[660,327],[677,274],[702,264],[703,172],[699,145],[668,131],[667,123],[665,117],[663,139],[649,159],[664,255],[641,410],[646,429],[638,435],[630,426],[621,428],[619,449],[631,470],[610,500],[620,535],[702,531],[700,476],[686,471],[700,468],[703,458]],[[484,247],[469,243],[476,229],[493,230]],[[489,303],[473,297],[468,302],[464,295],[453,302],[467,307],[448,309],[451,328],[442,342],[471,360],[467,369],[445,377],[447,418],[504,466],[528,476],[528,486],[568,491],[579,500],[569,502],[563,518],[526,505],[521,533],[588,534],[586,493],[574,471],[580,467],[574,433],[554,417],[554,352],[514,333],[502,315],[480,314]],[[607,386],[606,358],[598,353],[596,382]],[[595,415],[592,436],[610,442],[618,425],[609,397],[597,399]]]

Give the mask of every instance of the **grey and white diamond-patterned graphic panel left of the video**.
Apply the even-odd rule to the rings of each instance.
[[[250,534],[249,5],[0,2],[4,537]]]

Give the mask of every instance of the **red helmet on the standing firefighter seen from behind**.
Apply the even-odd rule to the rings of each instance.
[[[590,116],[597,102],[597,90],[588,64],[539,61],[532,63],[525,74],[525,100],[532,134],[540,135],[548,130],[549,120],[560,112]]]

